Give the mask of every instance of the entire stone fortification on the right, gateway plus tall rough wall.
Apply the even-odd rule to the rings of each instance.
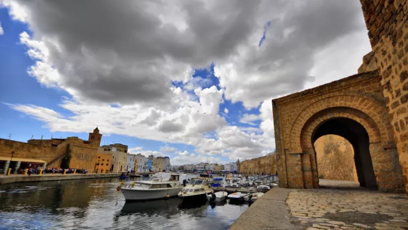
[[[359,74],[272,100],[281,187],[318,188],[313,144],[336,134],[354,148],[361,186],[408,191],[408,4],[361,4],[373,51]]]

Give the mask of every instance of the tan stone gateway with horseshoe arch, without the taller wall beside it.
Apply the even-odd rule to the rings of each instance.
[[[314,142],[344,137],[354,149],[360,185],[403,192],[391,118],[376,71],[272,101],[279,186],[319,188]]]

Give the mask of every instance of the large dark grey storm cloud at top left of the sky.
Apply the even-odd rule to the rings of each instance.
[[[234,53],[259,1],[20,1],[67,88],[105,102],[168,102],[171,80]],[[172,13],[178,10],[180,13]],[[173,15],[172,15],[173,14]],[[179,15],[177,15],[179,14]],[[185,28],[162,24],[180,17]]]

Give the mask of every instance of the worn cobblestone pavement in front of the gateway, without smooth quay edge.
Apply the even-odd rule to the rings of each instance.
[[[294,190],[286,200],[304,229],[408,229],[405,194],[370,190]]]

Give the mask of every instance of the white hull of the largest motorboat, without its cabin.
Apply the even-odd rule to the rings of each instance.
[[[126,201],[136,201],[136,200],[154,200],[154,199],[164,199],[169,197],[177,196],[183,187],[179,188],[169,188],[169,189],[146,189],[146,190],[136,190],[136,189],[126,189],[122,188],[120,191]]]

